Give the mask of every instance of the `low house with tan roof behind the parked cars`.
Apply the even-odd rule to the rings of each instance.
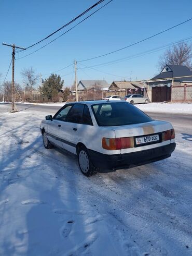
[[[141,81],[130,82],[130,81],[113,81],[108,90],[114,92],[114,94],[119,94],[120,96],[125,96],[127,94],[142,94],[145,93],[145,84]]]

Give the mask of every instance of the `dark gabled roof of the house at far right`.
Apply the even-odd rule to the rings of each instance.
[[[191,76],[186,77],[185,76]],[[150,80],[157,80],[157,79],[167,79],[172,77],[181,77],[175,80],[185,80],[185,81],[191,81],[192,79],[192,71],[187,66],[180,66],[180,65],[166,65],[159,75],[153,77]]]

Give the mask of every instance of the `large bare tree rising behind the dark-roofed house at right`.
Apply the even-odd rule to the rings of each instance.
[[[185,65],[192,69],[192,46],[181,42],[169,48],[163,55],[159,56],[158,68],[163,69],[166,64]]]

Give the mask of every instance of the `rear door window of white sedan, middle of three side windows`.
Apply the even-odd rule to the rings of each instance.
[[[71,111],[66,117],[66,121],[70,123],[81,124],[83,116],[84,104],[74,104]]]

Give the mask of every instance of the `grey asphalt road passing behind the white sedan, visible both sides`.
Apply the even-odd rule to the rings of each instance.
[[[47,115],[55,114],[61,106],[48,106],[48,105],[33,105],[33,104],[17,104],[18,110],[31,109],[38,112],[47,113]],[[157,120],[169,121],[176,132],[179,133],[189,133],[192,132],[192,115],[188,114],[172,114],[172,113],[152,113],[145,112],[147,115]]]

